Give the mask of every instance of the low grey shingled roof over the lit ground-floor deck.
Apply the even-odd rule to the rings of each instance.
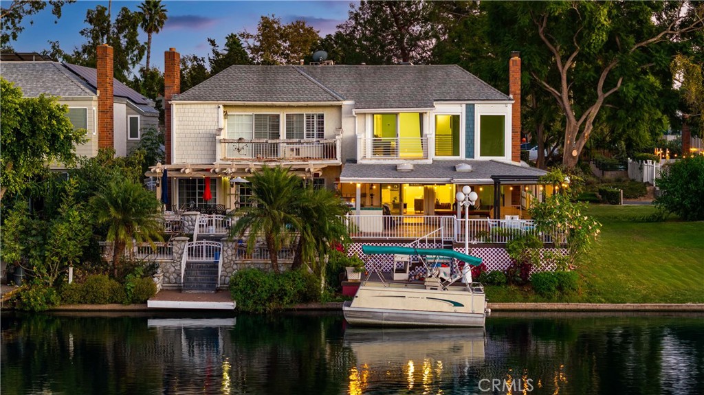
[[[534,184],[545,174],[541,169],[498,160],[435,160],[410,166],[346,163],[340,182],[486,185],[501,175],[515,176],[515,184]]]

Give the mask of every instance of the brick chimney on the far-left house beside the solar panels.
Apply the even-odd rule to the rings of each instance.
[[[98,148],[114,147],[113,47],[98,48]]]

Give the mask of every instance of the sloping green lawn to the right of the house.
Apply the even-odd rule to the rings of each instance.
[[[704,303],[704,221],[644,222],[652,206],[590,205],[601,235],[577,259],[579,294],[486,287],[490,302]]]

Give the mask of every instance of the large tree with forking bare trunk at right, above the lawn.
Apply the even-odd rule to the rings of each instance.
[[[681,1],[518,3],[485,5],[522,44],[530,75],[565,114],[562,163],[577,164],[598,115],[624,81],[655,78],[672,42],[704,26],[704,6]],[[684,13],[691,8],[689,14]],[[637,94],[638,92],[635,92]]]

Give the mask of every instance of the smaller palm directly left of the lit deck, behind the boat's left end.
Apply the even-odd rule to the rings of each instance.
[[[320,272],[321,280],[325,273],[325,255],[334,242],[349,240],[343,216],[348,207],[332,191],[306,188],[301,198],[296,200],[296,214],[302,219],[298,229],[296,255],[292,268],[304,261],[310,262],[315,272]],[[316,264],[318,262],[318,264]]]

